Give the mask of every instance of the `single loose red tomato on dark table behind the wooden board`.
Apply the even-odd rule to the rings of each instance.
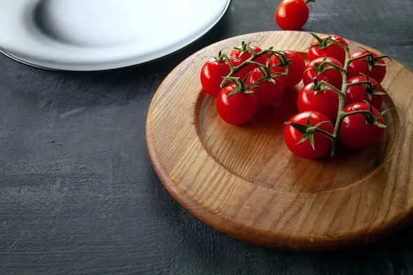
[[[284,0],[275,12],[275,21],[283,30],[299,30],[308,20],[308,5],[304,0]]]

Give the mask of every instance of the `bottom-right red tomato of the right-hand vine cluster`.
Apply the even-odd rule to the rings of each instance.
[[[357,110],[368,110],[366,103],[353,103],[344,108],[346,113]],[[378,115],[379,111],[373,107],[373,115]],[[383,117],[377,120],[385,124]],[[366,119],[361,113],[349,115],[344,118],[341,124],[339,140],[342,144],[353,149],[363,149],[377,144],[383,137],[385,129],[379,126],[366,123]]]

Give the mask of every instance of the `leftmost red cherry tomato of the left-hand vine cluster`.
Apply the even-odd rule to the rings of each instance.
[[[201,69],[201,84],[204,91],[216,98],[220,94],[222,78],[228,76],[231,68],[227,61],[216,61],[211,58]]]

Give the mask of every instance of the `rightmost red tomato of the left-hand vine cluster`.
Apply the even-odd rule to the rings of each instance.
[[[306,69],[306,62],[304,58],[299,55],[297,52],[293,51],[284,51],[286,52],[287,59],[291,59],[293,62],[288,65],[288,75],[282,76],[284,80],[284,87],[292,88],[297,85],[303,78],[304,69]],[[279,60],[275,56],[270,58],[271,66],[279,64]],[[284,67],[275,67],[273,68],[274,73],[284,73]]]

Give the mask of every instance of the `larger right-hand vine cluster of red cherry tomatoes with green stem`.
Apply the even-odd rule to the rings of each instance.
[[[313,36],[304,87],[297,98],[299,113],[286,123],[288,148],[299,157],[312,159],[326,154],[337,140],[354,149],[377,144],[385,130],[383,114],[388,111],[379,112],[385,94],[380,85],[386,74],[384,58],[388,56],[359,50],[346,59],[344,48],[332,43],[348,47],[344,39]]]

